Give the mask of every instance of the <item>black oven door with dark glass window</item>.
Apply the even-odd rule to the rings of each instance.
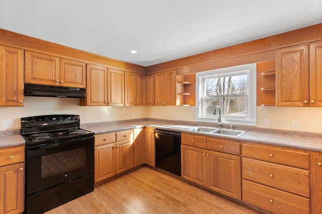
[[[26,149],[27,195],[94,172],[94,136]]]

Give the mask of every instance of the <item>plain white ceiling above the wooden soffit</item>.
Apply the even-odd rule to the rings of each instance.
[[[322,23],[322,0],[0,0],[0,9],[1,29],[142,66]]]

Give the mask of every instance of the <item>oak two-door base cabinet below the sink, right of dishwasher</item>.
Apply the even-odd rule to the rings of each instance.
[[[229,141],[220,142],[198,135],[182,134],[182,143],[181,173],[184,179],[241,199],[240,156],[205,149],[205,147],[216,148],[218,143],[230,147]],[[188,145],[184,145],[185,143]],[[191,145],[199,145],[202,148]]]

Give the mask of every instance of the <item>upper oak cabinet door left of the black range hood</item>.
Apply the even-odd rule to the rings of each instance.
[[[0,106],[23,106],[23,50],[0,46]]]

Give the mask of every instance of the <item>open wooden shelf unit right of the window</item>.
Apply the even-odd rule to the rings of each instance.
[[[275,60],[257,63],[257,106],[275,106]]]

